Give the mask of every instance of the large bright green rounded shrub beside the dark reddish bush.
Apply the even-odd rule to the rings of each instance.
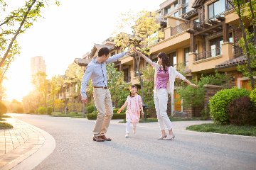
[[[210,98],[210,115],[213,118],[214,123],[228,124],[228,115],[226,113],[226,108],[228,103],[240,98],[242,96],[249,96],[250,92],[246,89],[223,89],[218,91],[212,98]]]

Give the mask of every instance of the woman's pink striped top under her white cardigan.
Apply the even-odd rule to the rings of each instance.
[[[157,70],[156,74],[156,89],[167,89],[167,83],[169,81],[169,69],[162,70],[161,67]]]

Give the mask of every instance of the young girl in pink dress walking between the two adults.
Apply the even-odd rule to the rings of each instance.
[[[127,100],[124,105],[117,111],[117,113],[121,113],[121,111],[127,106],[126,111],[126,134],[125,137],[129,137],[129,125],[132,122],[133,125],[133,133],[136,132],[136,125],[139,123],[140,112],[142,111],[142,115],[144,115],[143,107],[142,107],[142,98],[137,94],[137,86],[132,85],[130,87],[130,94],[127,96]]]

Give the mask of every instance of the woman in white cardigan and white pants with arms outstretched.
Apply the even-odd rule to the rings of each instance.
[[[138,55],[144,58],[146,62],[151,64],[155,69],[154,74],[154,104],[156,108],[156,115],[159,122],[159,126],[161,129],[161,136],[158,138],[159,140],[173,140],[175,135],[172,130],[171,121],[167,115],[167,102],[168,102],[168,94],[174,94],[174,81],[178,77],[182,79],[187,84],[191,86],[195,86],[192,84],[186,77],[171,67],[169,64],[169,58],[166,56],[164,52],[160,52],[157,55],[158,63],[152,62],[148,57],[143,55],[141,52],[134,49]],[[166,135],[164,124],[169,130],[169,135]]]

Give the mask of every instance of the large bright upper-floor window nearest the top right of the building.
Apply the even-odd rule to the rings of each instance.
[[[220,13],[225,11],[225,0],[215,1],[213,4],[208,5],[208,18],[214,18]]]

